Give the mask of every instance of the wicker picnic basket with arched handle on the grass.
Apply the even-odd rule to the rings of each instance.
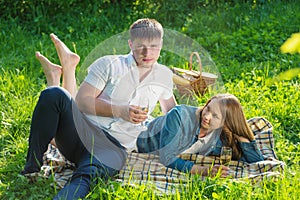
[[[193,56],[197,58],[199,71],[193,70]],[[202,63],[198,52],[191,53],[189,70],[177,67],[173,67],[172,70],[174,73],[173,82],[180,95],[203,95],[208,91],[208,87],[215,84],[218,78],[215,74],[202,72]]]

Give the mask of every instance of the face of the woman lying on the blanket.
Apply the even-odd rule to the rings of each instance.
[[[223,115],[218,100],[213,99],[202,111],[201,128],[212,131],[222,127]]]

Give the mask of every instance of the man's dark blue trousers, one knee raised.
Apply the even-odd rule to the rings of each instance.
[[[84,198],[91,185],[97,183],[96,177],[106,180],[116,175],[126,161],[127,154],[120,143],[91,124],[78,110],[70,94],[60,87],[47,88],[39,97],[32,116],[22,174],[40,171],[43,154],[53,138],[59,151],[76,165],[70,183],[55,199]],[[89,142],[94,142],[95,138],[95,146],[83,142],[85,139],[92,144]]]

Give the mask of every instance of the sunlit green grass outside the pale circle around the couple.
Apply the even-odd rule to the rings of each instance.
[[[241,100],[247,118],[263,116],[273,124],[277,156],[287,164],[285,174],[277,181],[257,184],[219,178],[196,180],[181,193],[162,196],[143,185],[124,188],[111,182],[96,186],[88,199],[300,199],[300,76],[267,84],[282,72],[300,67],[299,54],[279,51],[292,33],[300,31],[299,3],[120,2],[116,8],[106,3],[98,9],[87,5],[86,10],[75,7],[68,9],[67,14],[57,12],[55,19],[61,20],[54,21],[51,15],[43,18],[45,3],[34,7],[34,13],[27,12],[25,19],[25,15],[12,18],[9,14],[0,18],[0,199],[51,199],[57,193],[50,186],[51,179],[29,185],[18,175],[25,163],[31,115],[45,88],[34,52],[41,51],[58,63],[49,33],[57,33],[77,51],[82,64],[97,44],[145,16],[157,18],[166,28],[200,43],[218,67],[226,91]],[[119,15],[115,17],[116,11]],[[184,65],[168,53],[163,54],[161,62]],[[208,97],[205,95],[198,102],[203,103]]]

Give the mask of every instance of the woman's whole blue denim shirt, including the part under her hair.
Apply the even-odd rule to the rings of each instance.
[[[194,163],[177,156],[196,142],[195,136],[199,133],[197,109],[194,106],[178,105],[166,115],[150,122],[147,131],[143,131],[137,139],[138,151],[159,155],[160,162],[167,167],[183,172],[191,171]],[[220,155],[222,146],[218,137],[207,155]],[[241,161],[253,163],[263,160],[255,140],[239,142],[239,146],[242,150]]]

